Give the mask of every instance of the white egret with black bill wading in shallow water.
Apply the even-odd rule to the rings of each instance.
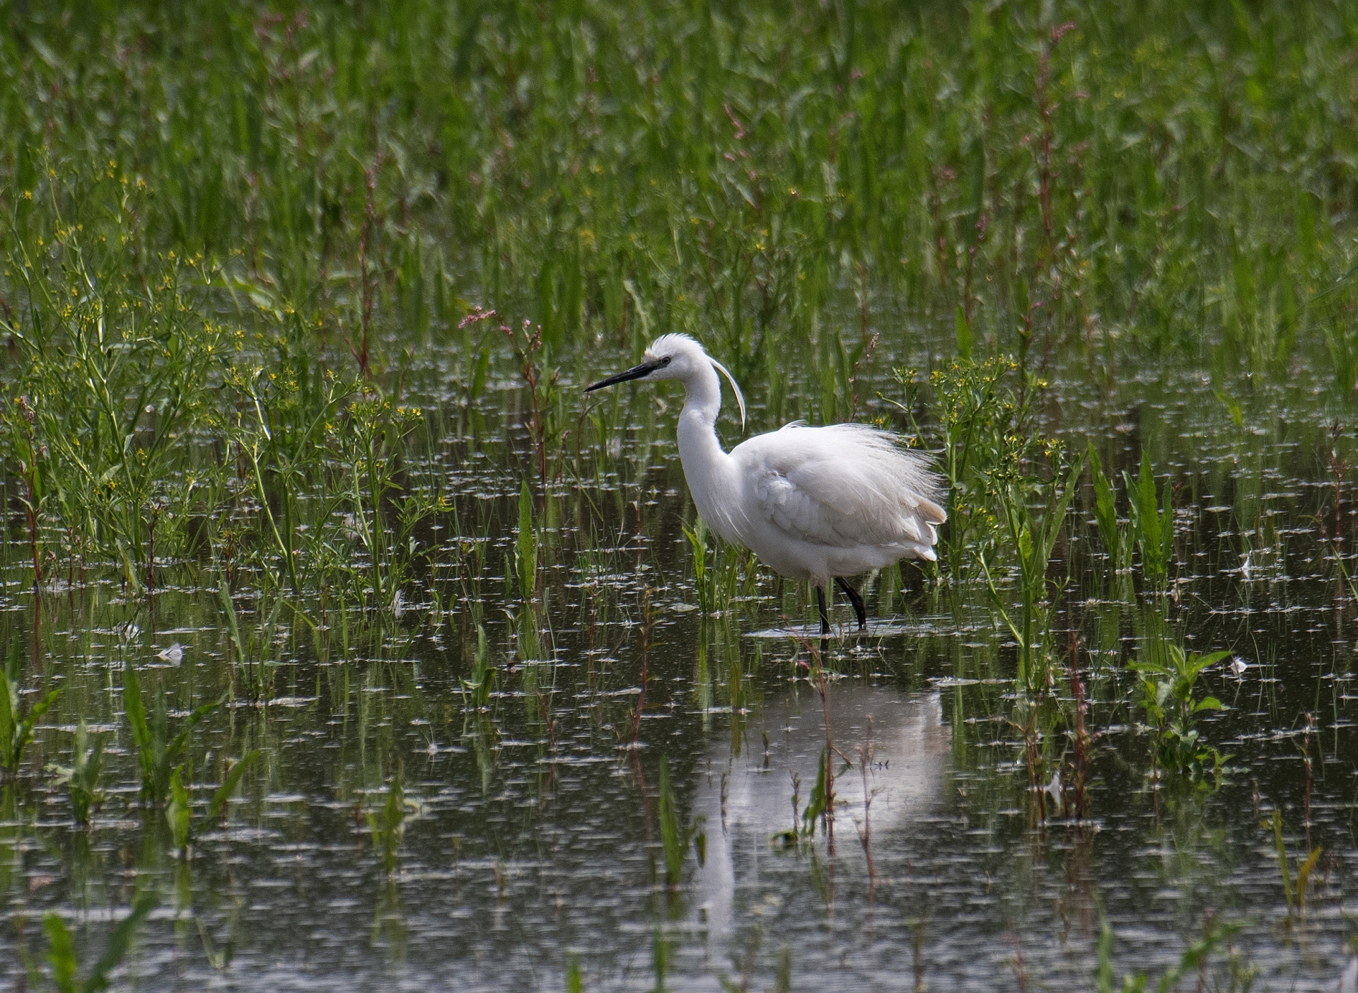
[[[746,422],[746,399],[727,368],[687,334],[665,334],[644,361],[585,387],[629,379],[678,379],[679,459],[698,515],[725,541],[743,545],[789,579],[811,580],[820,606],[820,633],[830,633],[826,592],[834,579],[853,603],[858,628],[868,615],[845,581],[902,558],[936,560],[938,480],[929,459],[900,439],[864,424],[785,425],[741,441],[729,452],[717,440],[721,372]]]

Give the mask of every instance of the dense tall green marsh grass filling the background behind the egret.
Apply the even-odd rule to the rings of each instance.
[[[1342,4],[26,10],[0,293],[39,572],[102,554],[137,584],[153,541],[220,539],[234,447],[257,547],[322,584],[297,496],[333,458],[360,522],[386,499],[403,410],[348,398],[399,397],[430,342],[469,398],[532,369],[540,478],[579,406],[554,375],[661,330],[770,420],[870,413],[868,353],[921,336],[1109,382],[1179,355],[1228,391],[1353,349]],[[497,321],[459,333],[469,302]],[[498,321],[531,322],[517,359]]]

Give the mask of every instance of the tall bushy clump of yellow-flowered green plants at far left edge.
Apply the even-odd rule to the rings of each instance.
[[[48,196],[60,212],[61,179]],[[106,554],[140,591],[152,579],[158,519],[183,520],[194,497],[194,485],[170,477],[182,435],[206,403],[224,331],[185,306],[183,284],[210,281],[213,270],[171,251],[134,277],[121,265],[105,269],[106,238],[91,243],[83,224],[58,221],[57,231],[50,246],[22,235],[7,245],[14,288],[29,307],[22,322],[7,312],[23,363],[11,383],[15,405],[0,410],[0,454],[26,480],[35,581],[56,511],[68,538]],[[56,265],[43,261],[49,249]],[[163,531],[163,547],[182,546],[183,537]]]

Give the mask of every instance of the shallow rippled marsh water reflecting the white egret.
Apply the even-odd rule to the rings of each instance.
[[[1351,591],[1317,530],[1334,515],[1317,456],[1329,435],[1301,412],[1304,386],[1262,397],[1255,429],[1234,428],[1196,376],[1128,384],[1148,397],[1134,408],[1089,389],[1058,383],[1048,427],[1071,444],[1099,437],[1111,467],[1154,450],[1181,482],[1186,565],[1162,610],[1119,599],[1099,557],[1080,554],[1092,530],[1078,515],[1058,629],[1081,638],[1096,735],[1086,820],[1069,816],[1069,793],[1062,811],[1029,789],[1013,647],[982,588],[940,596],[914,566],[899,584],[870,577],[869,632],[837,633],[824,705],[808,678],[805,590],[760,572],[722,615],[694,609],[674,395],[625,401],[642,427],[617,459],[600,455],[599,482],[554,496],[539,595],[520,602],[512,564],[500,568],[520,474],[513,441],[486,440],[488,409],[482,440],[449,420],[436,459],[411,473],[441,473],[458,520],[485,522],[454,534],[440,519],[425,535],[449,571],[483,554],[466,600],[444,584],[435,607],[435,569],[399,610],[331,607],[312,632],[261,617],[238,577],[240,624],[273,645],[265,705],[242,693],[216,591],[196,587],[191,564],[162,566],[153,618],[144,598],[91,575],[46,591],[35,626],[11,547],[10,630],[65,686],[30,763],[67,761],[84,716],[109,732],[111,796],[92,829],[73,830],[49,780],[5,785],[10,951],[39,955],[38,918],[56,909],[98,954],[133,894],[153,890],[159,907],[122,973],[133,989],[564,989],[570,962],[585,989],[766,989],[789,967],[792,989],[1092,989],[1104,922],[1118,978],[1154,981],[1215,920],[1240,925],[1210,960],[1222,989],[1232,970],[1256,970],[1255,989],[1334,989],[1354,931],[1358,694]],[[1058,424],[1063,412],[1078,412],[1073,425]],[[1346,496],[1344,534],[1348,515]],[[588,534],[614,538],[591,553]],[[1226,705],[1205,721],[1232,755],[1219,788],[1152,781],[1124,663],[1156,618],[1247,663],[1205,676]],[[482,709],[462,686],[477,619],[498,674]],[[156,657],[172,643],[178,666]],[[172,716],[234,694],[190,750],[200,814],[224,757],[261,748],[230,818],[202,827],[187,861],[162,812],[136,806],[118,676],[129,660]],[[784,834],[799,823],[794,792],[801,808],[811,796],[827,716],[842,757],[832,852],[823,826],[800,844]],[[1052,747],[1069,758],[1067,742]],[[687,853],[676,887],[664,882],[661,755],[705,849],[701,865]],[[365,815],[398,769],[409,816],[388,873]],[[1274,810],[1293,880],[1298,853],[1323,849],[1296,911]],[[4,955],[11,982],[18,958]]]

